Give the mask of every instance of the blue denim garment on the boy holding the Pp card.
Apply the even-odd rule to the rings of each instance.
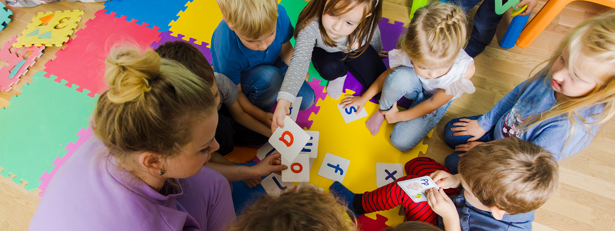
[[[491,212],[477,209],[467,203],[462,189],[459,195],[450,196],[451,200],[457,208],[459,214],[459,224],[463,231],[478,231],[478,230],[501,230],[501,231],[518,231],[532,230],[532,221],[534,221],[534,211],[520,214],[504,214],[501,220],[493,218]],[[438,215],[438,227],[444,230],[444,222],[442,217]]]

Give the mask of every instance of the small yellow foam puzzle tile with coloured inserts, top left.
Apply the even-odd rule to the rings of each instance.
[[[39,12],[38,15],[32,18],[28,28],[23,30],[22,36],[17,38],[17,42],[13,46],[46,45],[50,47],[56,45],[57,47],[62,47],[68,41],[68,36],[73,34],[73,29],[77,28],[77,22],[81,21],[81,15],[83,14],[84,12],[81,10]]]

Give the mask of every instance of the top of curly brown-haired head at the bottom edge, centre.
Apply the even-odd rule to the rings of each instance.
[[[302,187],[264,196],[228,231],[359,231],[346,210],[333,195]]]

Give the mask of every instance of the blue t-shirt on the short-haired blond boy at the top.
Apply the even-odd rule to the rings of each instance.
[[[239,40],[222,20],[212,36],[213,71],[228,76],[235,84],[239,84],[241,72],[252,69],[256,65],[274,65],[282,53],[282,44],[293,37],[293,25],[280,4],[277,5],[276,38],[267,50],[250,50]]]

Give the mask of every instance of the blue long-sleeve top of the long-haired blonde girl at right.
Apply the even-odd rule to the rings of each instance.
[[[587,146],[593,136],[598,133],[599,126],[587,124],[587,127],[584,127],[583,122],[577,118],[576,128],[568,144],[566,141],[568,141],[572,125],[565,115],[556,115],[542,120],[526,131],[518,129],[517,126],[528,117],[551,109],[557,102],[555,91],[550,87],[549,82],[544,81],[545,78],[542,76],[534,82],[526,80],[517,85],[502,100],[498,101],[493,109],[478,118],[478,125],[485,131],[494,128],[494,139],[515,136],[544,147],[554,155],[555,159],[561,160]],[[524,85],[526,85],[525,88]],[[587,122],[596,122],[593,116],[600,114],[603,108],[603,104],[584,108],[579,111],[579,116]]]

